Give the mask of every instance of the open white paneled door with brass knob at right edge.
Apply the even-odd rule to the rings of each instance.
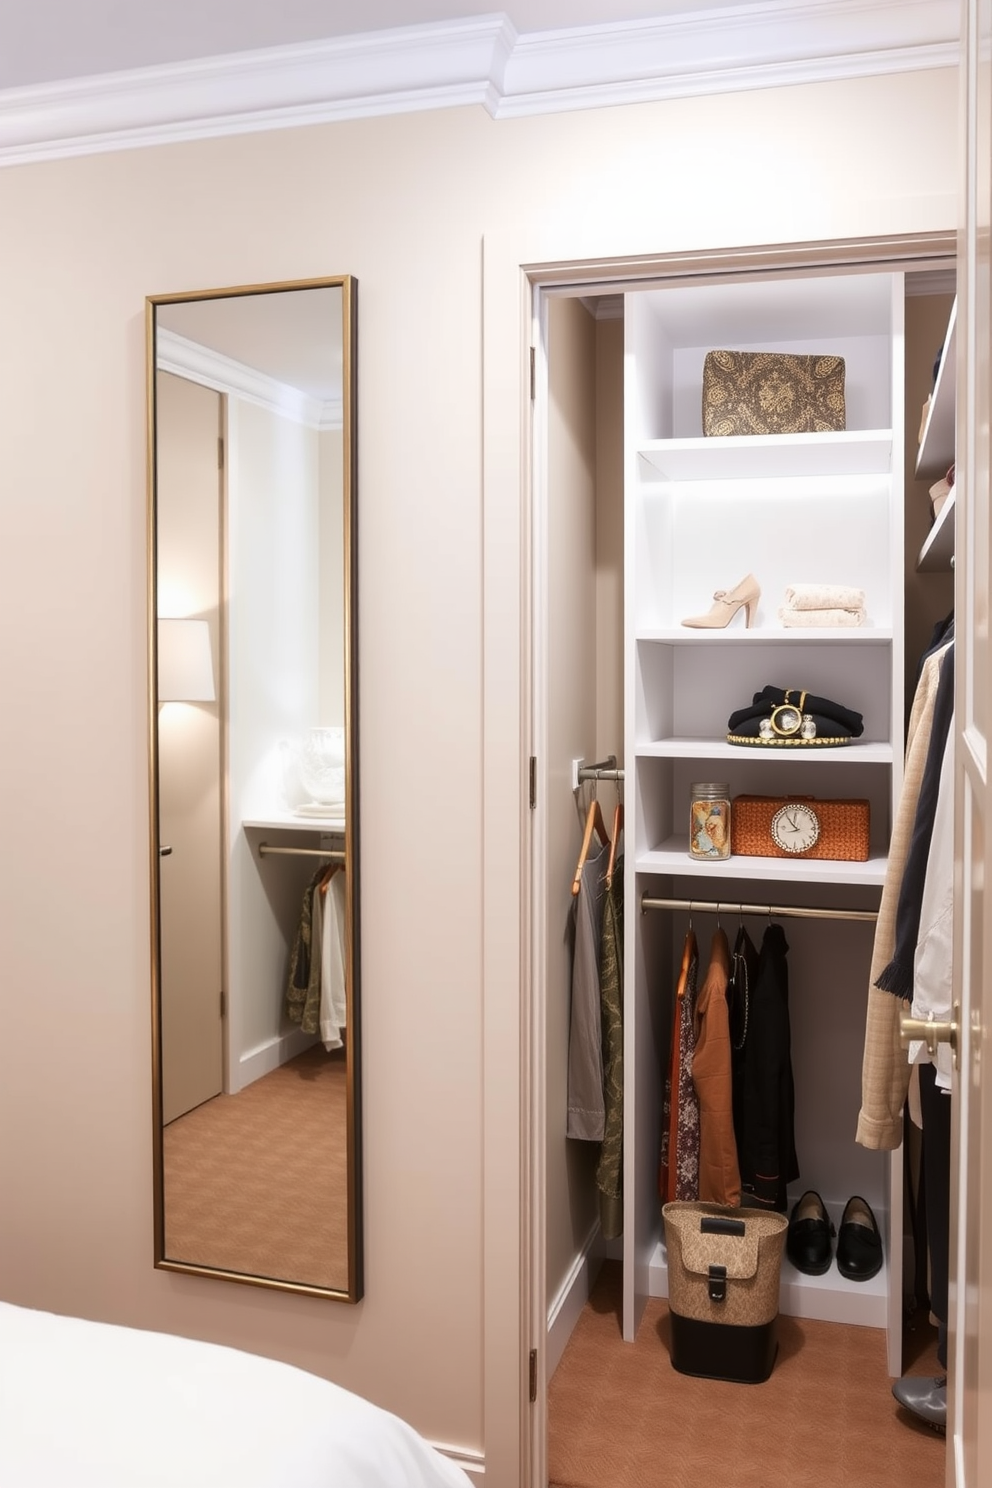
[[[992,314],[992,6],[968,0],[965,220],[959,263],[958,503],[955,594],[956,856],[955,991],[959,1025],[952,1132],[950,1399],[947,1484],[980,1488],[992,1473],[992,1028],[989,949],[992,918],[985,887],[992,872],[989,821],[989,324]],[[983,1181],[983,1176],[986,1181]],[[982,1237],[985,1235],[985,1242]]]

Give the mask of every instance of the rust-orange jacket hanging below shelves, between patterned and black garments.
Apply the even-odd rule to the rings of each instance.
[[[717,930],[709,969],[696,995],[693,1085],[699,1098],[699,1198],[708,1204],[741,1202],[741,1170],[733,1135],[733,1076],[727,981],[730,945]]]

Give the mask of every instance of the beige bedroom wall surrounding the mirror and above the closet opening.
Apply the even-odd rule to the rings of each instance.
[[[955,86],[460,109],[0,173],[1,1295],[290,1359],[519,1481],[513,260],[950,228]],[[360,284],[354,1309],[150,1265],[143,301],[335,272]]]

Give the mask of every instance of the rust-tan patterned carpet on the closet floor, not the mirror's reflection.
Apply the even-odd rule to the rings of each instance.
[[[550,1384],[550,1488],[941,1488],[944,1437],[897,1406],[879,1329],[781,1317],[764,1384],[692,1379],[665,1302],[622,1341],[619,1269],[599,1272]],[[909,1336],[906,1372],[937,1373],[930,1324]]]

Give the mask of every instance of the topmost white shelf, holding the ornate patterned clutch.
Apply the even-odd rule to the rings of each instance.
[[[773,476],[888,475],[891,429],[828,434],[729,434],[651,439],[638,446],[642,475],[662,481],[747,481]]]

